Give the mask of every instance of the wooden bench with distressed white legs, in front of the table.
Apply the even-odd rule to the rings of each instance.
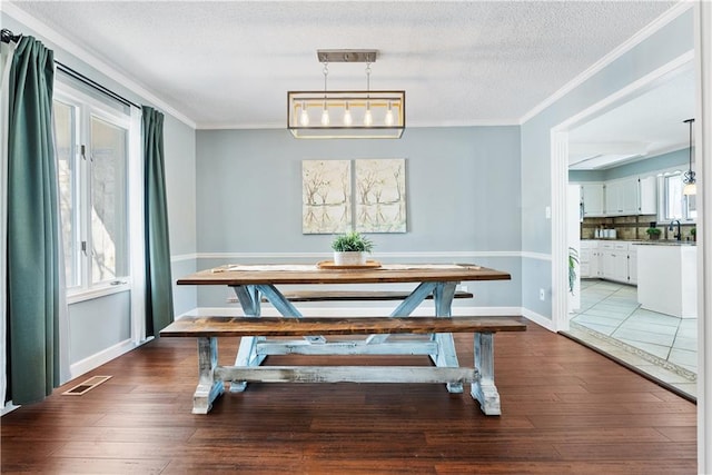
[[[194,395],[194,414],[207,414],[210,410],[215,398],[222,394],[225,382],[349,382],[471,383],[471,394],[479,402],[482,410],[487,415],[500,415],[500,395],[494,385],[494,334],[525,329],[526,325],[514,317],[184,317],[164,328],[160,336],[196,337],[198,340],[199,375]],[[474,334],[474,367],[259,366],[261,359],[254,362],[254,366],[217,364],[218,337],[444,333]],[[437,348],[433,350],[437,352]],[[431,357],[437,360],[436,355],[432,354]]]

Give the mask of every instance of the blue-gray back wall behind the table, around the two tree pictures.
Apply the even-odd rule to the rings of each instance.
[[[198,130],[198,267],[251,256],[264,261],[275,253],[281,260],[301,253],[328,257],[332,236],[301,234],[301,160],[405,158],[408,231],[373,235],[375,256],[486,260],[513,280],[496,301],[477,303],[518,306],[520,149],[518,127],[412,128],[399,140]],[[222,294],[200,289],[200,296],[201,306],[225,306]]]

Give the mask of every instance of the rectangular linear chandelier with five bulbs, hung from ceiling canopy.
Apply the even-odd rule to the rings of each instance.
[[[372,91],[370,63],[377,50],[318,50],[323,91],[287,92],[287,129],[296,138],[400,138],[405,91]],[[329,91],[328,62],[366,62],[366,90]]]

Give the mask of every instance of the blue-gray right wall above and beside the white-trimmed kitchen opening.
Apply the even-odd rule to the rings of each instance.
[[[522,305],[551,318],[552,224],[545,209],[552,200],[551,129],[625,86],[693,50],[693,12],[672,20],[593,77],[522,126]]]

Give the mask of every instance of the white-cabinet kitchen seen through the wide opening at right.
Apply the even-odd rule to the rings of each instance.
[[[696,206],[683,188],[693,117],[693,71],[682,66],[568,137],[580,239],[570,239],[570,333],[691,398]]]

